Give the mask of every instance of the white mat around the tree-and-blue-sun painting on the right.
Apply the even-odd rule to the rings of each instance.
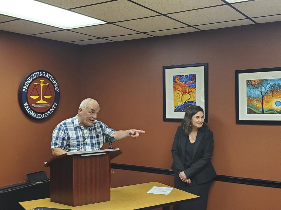
[[[247,80],[280,78],[280,71],[238,74],[239,120],[281,120],[281,115],[247,114]]]

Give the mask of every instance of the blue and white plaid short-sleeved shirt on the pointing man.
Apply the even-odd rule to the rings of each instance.
[[[103,122],[95,120],[87,141],[83,137],[78,116],[59,123],[52,134],[52,148],[61,148],[67,152],[99,150],[103,144],[104,136],[112,136],[114,129],[107,127]]]

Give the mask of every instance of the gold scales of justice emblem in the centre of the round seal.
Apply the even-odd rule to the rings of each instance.
[[[43,80],[43,79],[41,79],[40,80],[40,82],[41,83],[33,83],[34,84],[34,86],[33,86],[33,88],[32,88],[32,90],[31,90],[31,93],[30,93],[30,98],[32,98],[32,99],[37,99],[37,98],[39,98],[40,96],[41,96],[41,99],[39,100],[39,101],[36,101],[35,102],[35,104],[32,104],[32,106],[33,107],[44,107],[44,106],[51,106],[50,104],[47,104],[48,102],[47,101],[44,101],[43,99],[42,99],[42,96],[44,97],[44,98],[46,98],[46,99],[49,99],[49,98],[51,98],[52,97],[52,93],[51,93],[51,90],[50,90],[50,87],[49,87],[49,83],[43,83],[45,80]],[[37,88],[36,88],[36,85],[40,85],[41,87],[41,95],[39,95],[39,93],[38,93],[38,90],[37,90]],[[44,85],[47,85],[46,87],[47,88],[45,88],[45,91],[44,91],[44,94],[42,94],[43,93],[43,86]],[[36,92],[35,92],[36,91]],[[48,91],[48,92],[47,92]],[[36,93],[37,93],[37,95],[36,95]],[[32,95],[31,95],[32,94]]]

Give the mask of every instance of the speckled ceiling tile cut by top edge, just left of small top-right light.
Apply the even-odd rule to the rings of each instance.
[[[221,0],[133,0],[157,12],[166,14],[225,4]]]

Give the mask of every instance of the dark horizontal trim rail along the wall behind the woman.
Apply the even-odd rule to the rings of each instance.
[[[172,171],[171,169],[161,169],[161,168],[136,166],[136,165],[126,165],[126,164],[118,164],[118,163],[112,163],[111,168],[112,169],[140,171],[140,172],[147,172],[147,173],[153,173],[153,174],[165,174],[165,175],[174,176],[174,171]],[[222,181],[222,182],[246,184],[246,185],[256,185],[256,186],[262,186],[262,187],[281,188],[281,182],[263,180],[263,179],[253,179],[253,178],[242,178],[242,177],[235,177],[235,176],[217,175],[217,177],[214,178],[214,180],[215,181]]]

